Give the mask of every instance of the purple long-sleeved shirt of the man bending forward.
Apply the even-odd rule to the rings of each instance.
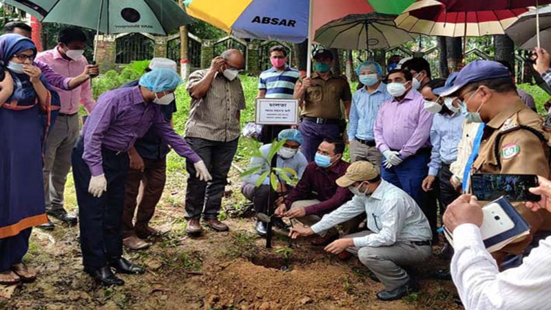
[[[152,127],[178,155],[197,163],[202,159],[165,120],[160,105],[145,103],[140,87],[119,88],[99,97],[82,130],[83,160],[92,176],[103,174],[101,149],[127,152]]]

